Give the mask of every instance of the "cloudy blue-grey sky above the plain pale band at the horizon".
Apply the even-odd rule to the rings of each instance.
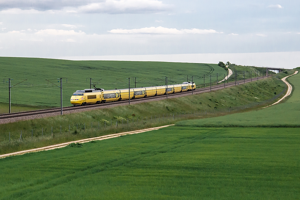
[[[0,56],[299,52],[299,7],[298,0],[0,0]]]

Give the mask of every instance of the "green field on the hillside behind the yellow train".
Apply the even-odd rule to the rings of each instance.
[[[97,88],[114,89],[128,88],[128,77],[138,77],[137,87],[177,84],[193,81],[203,84],[203,75],[212,75],[216,82],[216,74],[227,74],[227,71],[217,64],[172,63],[172,62],[138,62],[138,61],[69,61],[45,58],[9,58],[0,57],[0,78],[12,78],[11,85],[24,79],[24,85],[11,88],[11,102],[30,106],[60,106],[60,88],[50,82],[60,85],[57,78],[63,79],[63,105],[71,106],[70,97],[79,89],[90,88],[90,78],[97,82]],[[201,78],[199,79],[199,77]],[[146,78],[146,79],[144,79]],[[50,82],[46,81],[48,79]],[[117,80],[119,79],[119,80]],[[143,80],[142,80],[143,79]],[[0,102],[8,102],[7,79],[0,84]],[[124,83],[125,82],[125,83]],[[93,86],[92,86],[93,87]],[[135,87],[131,79],[131,87]]]

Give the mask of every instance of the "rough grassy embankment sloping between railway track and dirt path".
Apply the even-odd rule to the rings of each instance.
[[[173,124],[189,118],[206,118],[226,115],[228,114],[228,110],[222,112],[222,109],[247,105],[253,102],[261,102],[274,97],[274,93],[279,94],[284,89],[285,84],[280,79],[269,78],[193,96],[0,124],[0,139],[3,141],[0,145],[0,154],[59,144],[77,139],[102,136],[110,133],[121,133],[130,130]],[[214,112],[211,113],[211,110]],[[181,115],[181,117],[178,117],[180,113],[182,114],[182,112],[185,111],[204,112],[202,112],[202,115],[200,116]],[[207,115],[205,115],[205,111],[208,111]],[[169,118],[166,120],[167,113]],[[173,113],[175,114],[174,121]],[[162,120],[163,114],[164,120]],[[170,114],[172,117],[170,117]],[[159,115],[160,120],[158,120]],[[143,117],[143,123],[141,123],[141,117]],[[116,118],[119,119],[119,126],[117,128],[115,128]],[[124,125],[121,124],[122,118],[124,118]],[[129,125],[126,123],[127,118],[129,119]],[[139,118],[140,123],[137,123],[137,118]],[[151,121],[151,118],[156,118],[156,120]],[[100,123],[100,130],[98,130],[98,121],[103,119],[107,120],[106,128],[103,128],[104,124]],[[132,124],[132,119],[134,119],[134,124]],[[110,127],[111,120],[112,128]],[[86,127],[85,131],[83,130],[84,123]],[[91,130],[91,123],[93,123],[93,130]],[[69,124],[70,134],[68,132]],[[76,131],[77,124],[78,131]],[[60,134],[59,126],[62,126],[62,134]],[[51,127],[53,127],[53,137],[51,136]],[[33,138],[31,138],[32,129]],[[21,130],[23,139],[25,139],[24,142],[19,142]],[[9,132],[13,142],[8,142]]]

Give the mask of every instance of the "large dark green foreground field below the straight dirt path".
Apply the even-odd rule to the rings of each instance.
[[[1,159],[1,199],[299,199],[299,128],[168,127]]]

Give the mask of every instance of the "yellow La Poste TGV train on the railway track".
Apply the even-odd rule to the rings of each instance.
[[[172,94],[184,91],[191,91],[196,89],[194,82],[183,82],[177,85],[161,85],[146,88],[130,88],[129,89],[115,89],[104,90],[102,88],[77,90],[71,97],[71,104],[86,105],[95,103],[104,103],[111,101],[121,101],[130,99],[137,99],[143,97],[153,97],[164,94]]]

